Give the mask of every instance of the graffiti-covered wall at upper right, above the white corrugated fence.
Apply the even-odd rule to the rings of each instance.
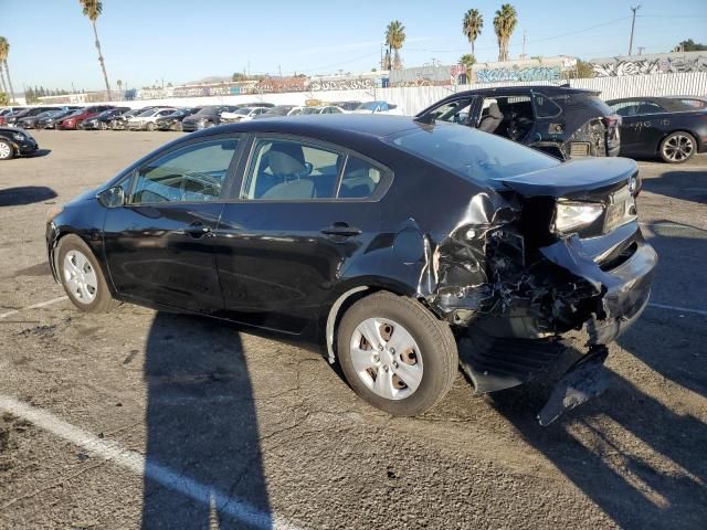
[[[632,55],[590,61],[594,77],[707,72],[706,52]]]

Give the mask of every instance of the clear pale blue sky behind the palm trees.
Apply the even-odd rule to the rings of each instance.
[[[669,50],[684,39],[707,42],[706,0],[516,0],[510,54],[625,54],[632,3],[640,1],[634,49]],[[479,61],[497,56],[493,18],[502,1],[444,0],[104,0],[98,19],[108,76],[130,87],[211,75],[360,72],[378,66],[386,24],[399,19],[408,40],[405,66],[456,62],[469,51],[463,13],[485,19]],[[620,20],[623,19],[623,20]],[[78,0],[0,0],[0,35],[11,45],[10,71],[22,85],[95,89],[103,84],[93,32]]]

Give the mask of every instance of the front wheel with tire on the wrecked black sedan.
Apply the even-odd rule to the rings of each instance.
[[[55,253],[56,272],[61,279],[62,287],[74,306],[84,312],[108,312],[118,306],[118,301],[113,298],[106,279],[103,276],[98,264],[88,245],[77,235],[68,234],[59,240]],[[72,275],[70,263],[82,269],[85,279],[81,288],[77,284],[72,284],[68,277]],[[89,285],[92,284],[92,285]],[[91,292],[93,287],[93,293]],[[93,295],[93,296],[92,296]]]

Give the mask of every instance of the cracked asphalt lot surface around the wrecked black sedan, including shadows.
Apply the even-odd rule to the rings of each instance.
[[[0,162],[0,528],[707,528],[706,156],[641,162],[652,305],[544,428],[531,385],[393,418],[312,348],[56,301],[46,211],[178,134],[35,137]]]

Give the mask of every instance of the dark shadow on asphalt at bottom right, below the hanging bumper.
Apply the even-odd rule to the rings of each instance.
[[[707,425],[676,413],[610,372],[600,398],[548,427],[532,417],[548,395],[536,384],[488,396],[523,436],[626,529],[704,529]]]

